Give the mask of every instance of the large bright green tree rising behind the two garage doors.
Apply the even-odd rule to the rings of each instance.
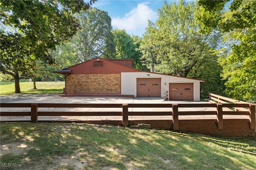
[[[207,86],[202,86],[205,95],[208,90],[222,89],[223,85],[210,87],[211,74],[220,81],[219,69],[215,68],[219,38],[218,32],[198,33],[200,23],[196,16],[199,12],[197,3],[180,0],[178,4],[169,5],[165,1],[158,10],[156,23],[148,23],[140,49],[141,59],[148,68],[155,65],[155,71],[160,73],[205,79]]]

